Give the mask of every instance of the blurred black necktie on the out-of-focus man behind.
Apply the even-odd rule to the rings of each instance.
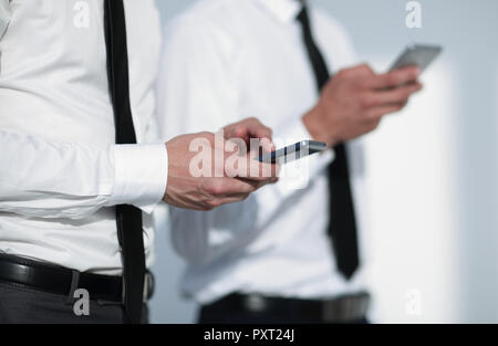
[[[309,59],[313,65],[318,90],[321,91],[330,78],[325,61],[313,41],[310,18],[304,7],[298,15]],[[335,148],[335,159],[329,167],[330,224],[329,234],[339,271],[347,280],[353,276],[360,261],[357,253],[356,220],[351,193],[347,153],[344,144]]]

